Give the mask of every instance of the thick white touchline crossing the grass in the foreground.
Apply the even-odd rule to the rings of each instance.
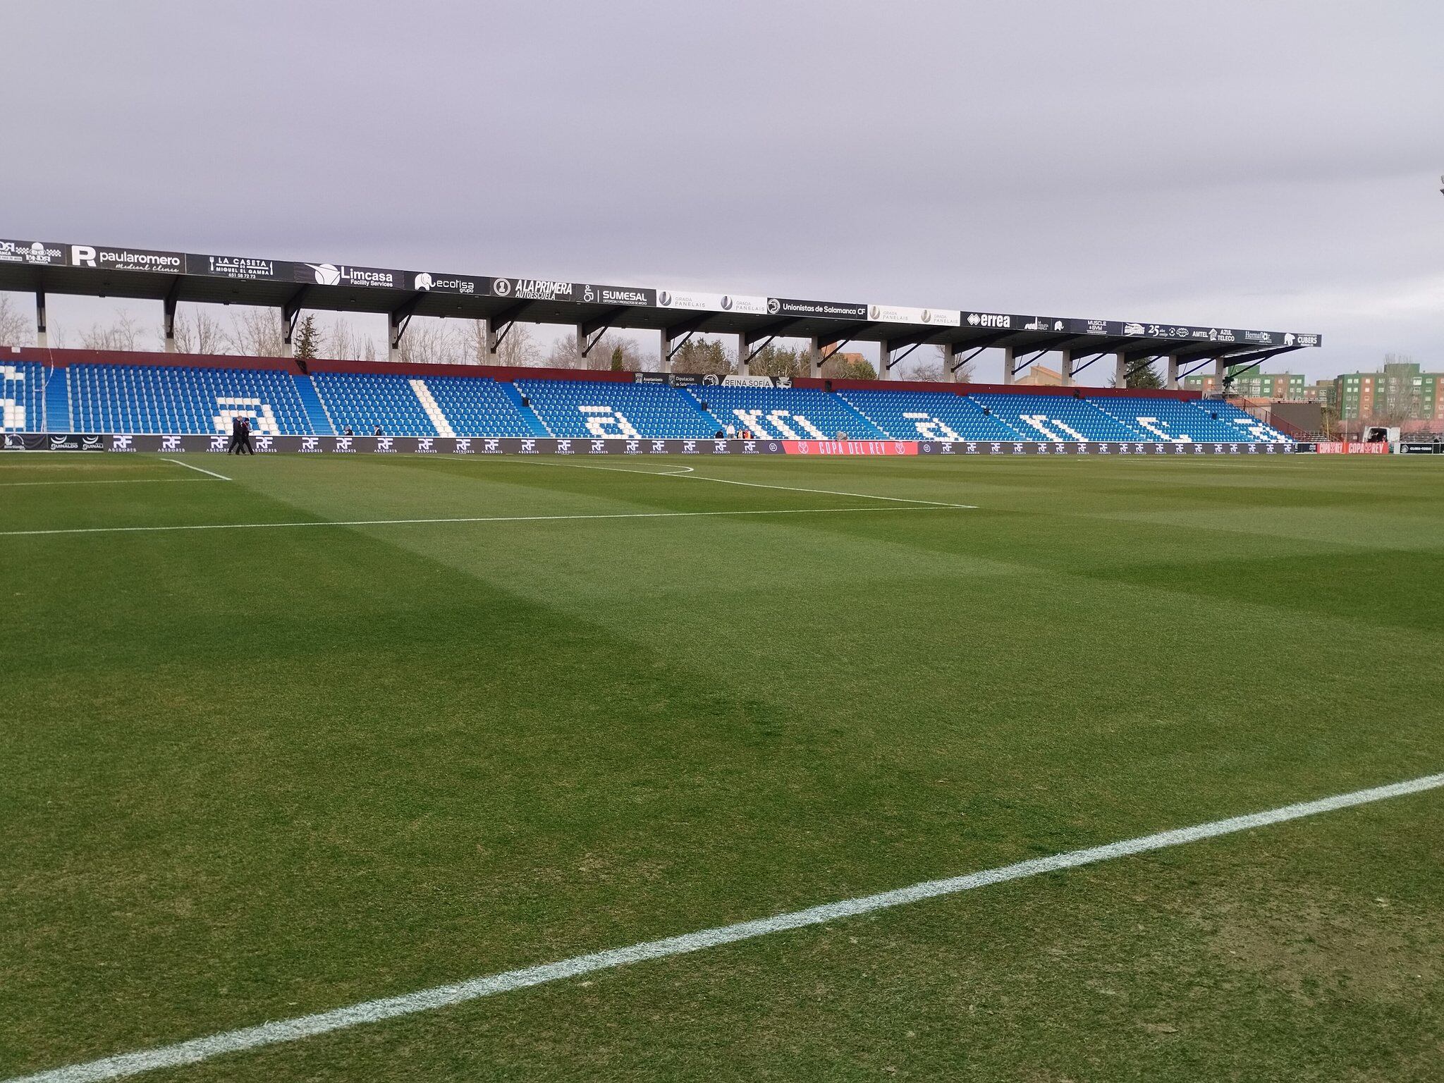
[[[1181,846],[1187,842],[1212,839],[1219,835],[1232,835],[1233,832],[1249,830],[1251,827],[1264,827],[1271,823],[1284,823],[1285,820],[1297,820],[1304,816],[1317,816],[1318,813],[1333,812],[1334,809],[1347,809],[1354,804],[1367,804],[1370,801],[1382,801],[1389,797],[1402,797],[1405,794],[1421,793],[1424,790],[1435,790],[1441,786],[1444,786],[1444,774],[1431,774],[1422,778],[1412,778],[1406,783],[1391,783],[1389,786],[1376,786],[1370,790],[1354,790],[1353,793],[1324,797],[1317,801],[1285,804],[1282,809],[1235,816],[1227,820],[1213,820],[1210,823],[1200,823],[1194,827],[1178,827],[1174,830],[1158,832],[1157,835],[1144,835],[1136,839],[1110,842],[1105,846],[1090,846],[1082,851],[1054,853],[1051,858],[1019,861],[1017,865],[1004,865],[996,869],[969,872],[965,877],[930,879],[923,884],[895,888],[894,891],[882,891],[877,895],[862,895],[861,898],[849,898],[842,902],[827,902],[826,905],[797,910],[790,914],[775,914],[774,917],[764,917],[755,921],[739,921],[734,926],[703,928],[696,933],[683,933],[682,936],[671,936],[663,940],[647,940],[640,944],[614,947],[593,954],[579,954],[556,963],[529,966],[521,970],[507,970],[505,973],[494,973],[485,978],[472,978],[471,980],[456,982],[455,985],[439,985],[433,989],[422,989],[420,992],[403,993],[400,996],[386,996],[378,1001],[365,1001],[364,1004],[352,1004],[348,1008],[334,1008],[331,1011],[316,1012],[315,1015],[300,1015],[293,1019],[263,1022],[258,1027],[224,1031],[221,1034],[212,1034],[208,1038],[180,1041],[175,1045],[160,1045],[140,1053],[123,1053],[116,1057],[104,1057],[101,1060],[91,1060],[82,1064],[69,1064],[62,1069],[39,1071],[32,1076],[17,1076],[6,1080],[6,1083],[92,1083],[92,1080],[136,1076],[142,1071],[152,1071],[155,1069],[195,1064],[202,1060],[209,1060],[211,1057],[218,1057],[222,1053],[238,1053],[241,1050],[253,1050],[260,1045],[296,1041],[316,1034],[345,1030],[347,1027],[358,1027],[364,1022],[393,1019],[399,1015],[413,1015],[416,1012],[446,1008],[452,1004],[475,1001],[482,996],[495,996],[497,993],[511,992],[513,989],[526,989],[533,985],[556,982],[563,978],[576,978],[578,975],[591,973],[593,970],[606,970],[614,966],[627,966],[628,963],[640,963],[647,959],[663,959],[671,954],[700,952],[705,947],[732,944],[738,940],[752,940],[770,933],[781,933],[788,928],[817,926],[825,921],[836,921],[838,918],[868,914],[875,910],[888,910],[908,902],[918,902],[924,898],[954,895],[959,891],[972,891],[973,888],[983,888],[989,884],[1002,884],[1009,879],[1037,877],[1043,872],[1056,872],[1058,869],[1070,869],[1097,861],[1110,861],[1113,858],[1126,858],[1134,853],[1147,853],[1148,851],[1165,849],[1168,846]]]

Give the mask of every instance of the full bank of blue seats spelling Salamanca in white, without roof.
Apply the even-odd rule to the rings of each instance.
[[[1191,391],[400,365],[23,349],[6,362],[7,433],[1287,443]],[[617,377],[624,377],[618,380]],[[797,386],[794,386],[797,384]]]

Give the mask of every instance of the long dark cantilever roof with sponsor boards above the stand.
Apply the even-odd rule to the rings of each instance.
[[[397,319],[565,323],[686,332],[777,335],[825,342],[1012,347],[1022,351],[1119,351],[1131,357],[1249,357],[1317,347],[1313,332],[1252,331],[1142,321],[924,309],[874,302],[800,300],[699,293],[666,286],[608,286],[209,256],[95,244],[0,238],[0,290],[136,297],[212,305],[257,305],[336,312],[384,312]]]

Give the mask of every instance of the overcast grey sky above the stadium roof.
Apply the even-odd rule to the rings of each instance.
[[[1317,331],[1287,365],[1444,370],[1440,0],[48,0],[0,40],[6,237]]]

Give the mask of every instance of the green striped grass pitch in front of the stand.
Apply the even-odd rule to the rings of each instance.
[[[185,462],[0,459],[0,1079],[1444,770],[1432,459]],[[140,1079],[1438,1079],[1441,814]]]

